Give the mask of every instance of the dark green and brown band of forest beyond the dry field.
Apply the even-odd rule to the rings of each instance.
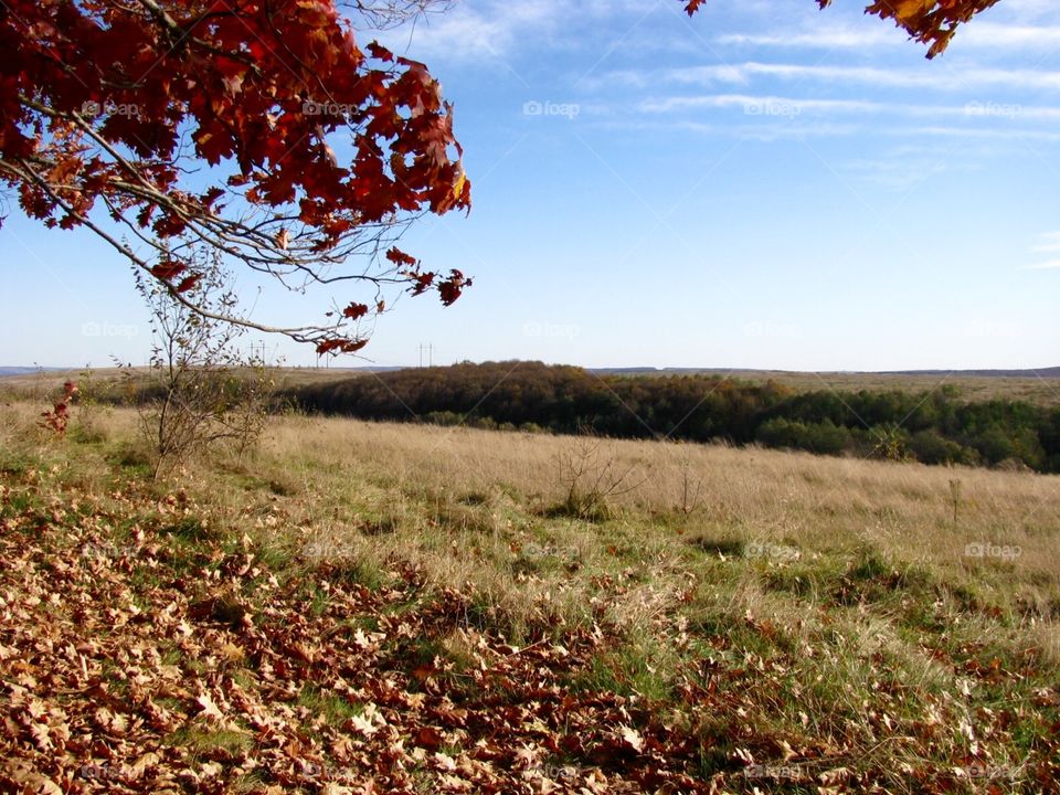
[[[595,375],[540,362],[365,374],[287,395],[301,409],[363,420],[877,456],[1060,473],[1060,406],[968,402],[932,392],[801,391],[714,375]]]

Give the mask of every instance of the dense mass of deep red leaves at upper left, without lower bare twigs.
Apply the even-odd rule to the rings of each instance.
[[[10,0],[0,12],[0,183],[50,225],[76,226],[103,201],[165,239],[239,188],[327,253],[395,213],[468,209],[460,153],[427,68],[377,43],[365,55],[335,0]],[[192,192],[181,178],[197,161],[216,168]],[[285,251],[286,230],[275,235]]]

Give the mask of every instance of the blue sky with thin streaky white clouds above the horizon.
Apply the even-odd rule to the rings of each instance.
[[[389,33],[456,104],[474,181],[469,218],[403,247],[475,286],[399,300],[367,358],[1060,364],[1060,10],[1001,0],[929,62],[862,7],[463,0]],[[0,363],[144,361],[128,267],[91,233],[13,208],[0,268]],[[240,286],[264,321],[330,303]]]

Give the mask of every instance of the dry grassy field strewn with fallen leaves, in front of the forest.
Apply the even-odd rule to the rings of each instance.
[[[0,405],[9,781],[1057,792],[1060,477],[294,415],[156,484],[135,413],[36,413]]]

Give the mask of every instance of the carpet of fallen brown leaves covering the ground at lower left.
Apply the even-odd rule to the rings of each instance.
[[[431,587],[400,560],[369,589],[340,565],[273,570],[245,534],[189,542],[181,528],[198,532],[204,511],[183,495],[23,491],[44,505],[17,508],[0,486],[6,792],[838,793],[884,792],[894,775],[856,771],[854,745],[760,725],[756,704],[786,675],[775,658],[703,656],[672,714],[571,686],[642,628],[542,623],[516,646],[475,617],[473,586]],[[1001,676],[989,661],[967,672]],[[1054,690],[1040,699],[1054,710]],[[895,721],[876,722],[898,736]],[[971,722],[957,730],[976,742]],[[1058,727],[1041,733],[1056,749]],[[993,792],[977,759],[958,762],[908,778]],[[1039,763],[1038,792],[1054,791],[1054,772]]]

